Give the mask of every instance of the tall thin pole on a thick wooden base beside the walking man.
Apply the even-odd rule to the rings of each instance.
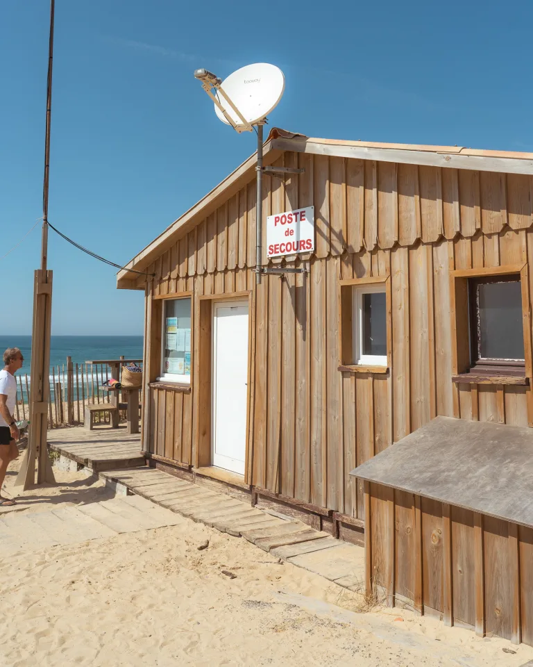
[[[50,175],[50,126],[52,110],[53,21],[55,0],[50,3],[50,37],[48,77],[46,81],[46,132],[44,140],[44,181],[42,188],[41,267],[35,271],[33,286],[33,329],[31,338],[31,388],[29,396],[30,430],[28,447],[15,486],[24,491],[37,484],[53,483],[52,466],[48,456],[48,403],[50,396],[50,335],[52,319],[52,272],[48,270],[48,189]]]

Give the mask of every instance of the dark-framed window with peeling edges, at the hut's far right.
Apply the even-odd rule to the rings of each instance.
[[[519,275],[468,279],[470,357],[476,372],[524,374]]]

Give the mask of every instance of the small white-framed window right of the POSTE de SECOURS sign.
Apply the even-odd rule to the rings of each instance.
[[[384,284],[353,288],[353,362],[387,365],[387,298]]]

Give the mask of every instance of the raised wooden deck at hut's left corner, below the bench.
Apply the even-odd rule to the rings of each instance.
[[[144,466],[141,436],[128,434],[126,426],[112,429],[103,425],[92,431],[83,427],[53,429],[47,439],[52,451],[93,472]]]

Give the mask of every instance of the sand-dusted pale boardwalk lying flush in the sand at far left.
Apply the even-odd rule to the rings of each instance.
[[[180,521],[171,511],[136,495],[87,504],[62,504],[45,512],[8,513],[0,517],[0,557],[173,526]]]

